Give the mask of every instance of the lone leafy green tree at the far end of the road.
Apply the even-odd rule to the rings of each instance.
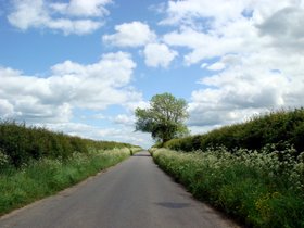
[[[187,103],[170,93],[155,94],[149,109],[137,109],[136,130],[151,132],[153,139],[166,142],[189,134],[183,122],[188,118]]]

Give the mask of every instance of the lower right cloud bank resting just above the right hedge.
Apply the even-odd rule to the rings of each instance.
[[[294,62],[303,61],[304,58],[286,60],[258,52],[202,78],[200,83],[206,88],[192,92],[189,125],[223,126],[280,107],[303,106],[304,80],[300,71],[304,67],[292,68]],[[280,71],[275,68],[278,66]]]

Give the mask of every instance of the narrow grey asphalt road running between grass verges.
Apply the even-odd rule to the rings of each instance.
[[[148,152],[0,218],[1,228],[238,227],[198,202]]]

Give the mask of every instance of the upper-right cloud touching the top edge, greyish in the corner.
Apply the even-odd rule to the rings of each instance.
[[[166,34],[164,41],[187,47],[190,50],[185,55],[187,64],[228,53],[251,53],[274,45],[284,48],[283,51],[292,47],[292,51],[303,50],[304,7],[299,1],[216,2],[182,0],[168,4],[163,23],[170,22],[179,29]]]

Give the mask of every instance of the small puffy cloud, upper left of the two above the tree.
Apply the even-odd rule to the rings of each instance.
[[[116,34],[104,35],[102,40],[117,47],[141,47],[156,39],[149,25],[137,21],[116,25],[115,30]]]

